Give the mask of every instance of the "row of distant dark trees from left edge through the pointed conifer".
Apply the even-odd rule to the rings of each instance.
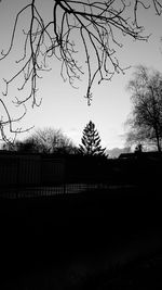
[[[89,156],[105,156],[106,148],[100,146],[100,137],[95,124],[90,121],[83,129],[81,144],[75,146],[60,129],[44,128],[36,130],[24,141],[16,140],[14,143],[3,143],[3,150],[46,153],[46,154],[80,154]]]

